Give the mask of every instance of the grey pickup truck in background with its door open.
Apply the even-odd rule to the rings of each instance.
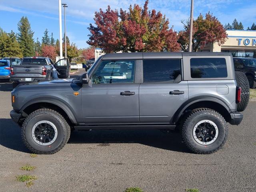
[[[20,65],[11,66],[10,81],[15,88],[19,83],[52,80],[54,68],[59,78],[67,78],[68,67],[68,59],[61,59],[54,64],[47,57],[24,57]]]

